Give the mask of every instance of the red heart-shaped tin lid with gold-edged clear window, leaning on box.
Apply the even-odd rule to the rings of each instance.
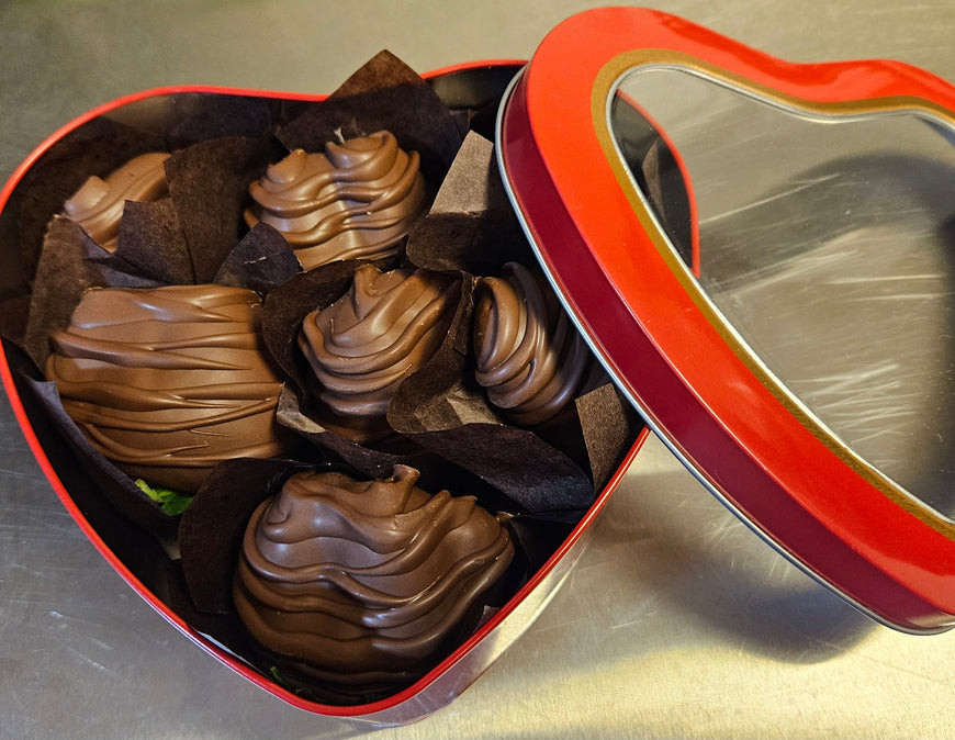
[[[544,38],[498,121],[541,265],[650,426],[875,618],[955,623],[955,88],[664,13]]]

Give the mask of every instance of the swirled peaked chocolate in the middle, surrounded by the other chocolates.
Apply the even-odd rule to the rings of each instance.
[[[345,417],[384,416],[398,384],[441,344],[459,295],[460,281],[436,272],[359,267],[348,292],[308,314],[299,335],[321,399]]]

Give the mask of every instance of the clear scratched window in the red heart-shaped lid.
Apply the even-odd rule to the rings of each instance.
[[[629,74],[615,131],[628,101],[678,153],[699,282],[741,341],[844,444],[951,517],[950,122],[797,109],[679,68]],[[645,170],[638,186],[683,255],[681,191]]]

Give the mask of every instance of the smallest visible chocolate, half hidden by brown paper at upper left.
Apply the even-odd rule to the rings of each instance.
[[[126,201],[149,202],[169,194],[162,166],[168,157],[162,152],[143,154],[105,180],[89,178],[64,204],[66,217],[82,226],[101,247],[115,251]]]

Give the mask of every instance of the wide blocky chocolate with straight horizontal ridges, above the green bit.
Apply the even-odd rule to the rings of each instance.
[[[222,285],[92,289],[56,332],[46,378],[90,442],[132,478],[195,491],[221,460],[272,457],[282,383],[260,303]]]

